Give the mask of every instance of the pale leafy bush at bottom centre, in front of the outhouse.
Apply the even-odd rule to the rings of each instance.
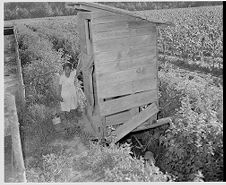
[[[167,181],[167,175],[160,172],[157,167],[145,167],[142,159],[132,158],[128,144],[120,147],[115,144],[109,147],[91,144],[88,152],[74,160],[73,166],[76,170],[90,170],[92,178],[98,181]]]

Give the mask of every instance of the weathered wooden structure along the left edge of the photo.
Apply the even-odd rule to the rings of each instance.
[[[17,32],[13,26],[4,27],[5,182],[26,182],[17,115],[24,105],[25,91]],[[7,141],[11,141],[9,145],[6,144]]]

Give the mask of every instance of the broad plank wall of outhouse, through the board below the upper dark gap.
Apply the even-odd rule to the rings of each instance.
[[[91,25],[100,114],[156,102],[156,26],[104,11],[92,13]]]

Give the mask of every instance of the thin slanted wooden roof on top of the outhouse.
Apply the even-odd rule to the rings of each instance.
[[[135,18],[138,18],[138,19],[141,19],[141,20],[149,21],[149,22],[157,24],[157,25],[173,26],[173,23],[171,23],[171,22],[162,22],[162,21],[154,20],[154,19],[145,17],[141,14],[138,14],[136,12],[131,12],[131,11],[127,11],[127,10],[124,10],[124,9],[121,9],[121,8],[107,6],[107,5],[103,5],[103,4],[99,4],[99,3],[76,2],[76,3],[67,3],[66,6],[70,7],[70,8],[75,8],[75,9],[78,9],[78,10],[86,10],[86,11],[90,11],[90,10],[92,11],[94,9],[104,10],[104,11],[108,11],[108,12],[111,12],[111,13],[132,16],[132,17],[135,17]]]

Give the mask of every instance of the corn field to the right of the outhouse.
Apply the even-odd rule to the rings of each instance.
[[[222,6],[142,11],[150,19],[175,24],[159,29],[159,52],[174,63],[214,75],[223,70],[223,8]]]

